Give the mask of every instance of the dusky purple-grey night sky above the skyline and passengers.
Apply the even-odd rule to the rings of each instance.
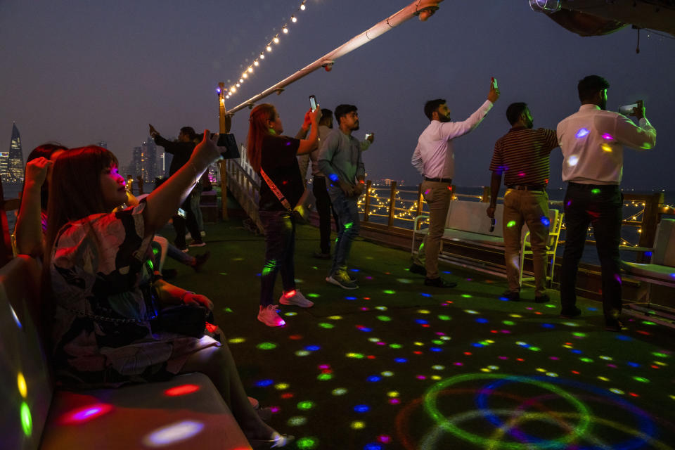
[[[271,37],[290,24],[301,0],[22,1],[0,0],[0,145],[9,147],[12,121],[24,156],[45,141],[82,146],[107,141],[126,165],[148,136],[148,122],[165,136],[179,128],[217,130],[218,82],[238,77]],[[231,108],[387,18],[410,0],[308,0],[307,11],[281,35]],[[645,101],[657,129],[648,153],[626,150],[626,188],[672,188],[675,147],[675,39],[624,29],[579,37],[530,10],[526,0],[446,0],[426,23],[410,20],[266,101],[293,135],[315,94],[323,108],[359,107],[369,179],[416,184],[410,165],[428,120],[423,105],[446,98],[454,120],[484,101],[491,76],[502,96],[472,134],[456,141],[458,186],[489,184],[494,141],[508,131],[509,103],[525,101],[535,127],[551,127],[579,107],[585,75],[606,77],[608,109]],[[248,62],[246,62],[248,59]],[[245,141],[248,110],[233,132]],[[562,158],[553,150],[551,186]]]

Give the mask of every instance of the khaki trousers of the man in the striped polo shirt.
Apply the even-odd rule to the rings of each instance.
[[[546,191],[517,191],[504,194],[504,256],[510,292],[520,292],[520,234],[522,225],[529,228],[534,265],[534,295],[546,293],[546,242],[548,241],[548,194]]]

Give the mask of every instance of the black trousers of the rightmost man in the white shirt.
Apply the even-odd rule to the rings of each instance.
[[[589,224],[593,226],[602,269],[605,322],[615,323],[621,313],[621,240],[623,195],[616,185],[570,183],[565,193],[565,252],[560,268],[560,305],[563,311],[577,302],[577,267]]]

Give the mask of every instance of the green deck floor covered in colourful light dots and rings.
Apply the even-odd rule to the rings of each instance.
[[[297,231],[295,268],[315,305],[282,307],[287,325],[268,328],[256,319],[263,238],[236,219],[206,231],[191,253],[210,261],[200,273],[167,261],[172,282],[214,302],[248,394],[273,407],[291,448],[675,446],[672,329],[626,319],[628,331],[607,332],[602,305],[583,298],[581,317],[560,319],[557,291],[550,304],[532,288],[506,302],[503,278],[443,264],[458,287],[428,288],[408,252],[364,240],[350,259],[360,288],[342,290],[311,257],[311,226]]]

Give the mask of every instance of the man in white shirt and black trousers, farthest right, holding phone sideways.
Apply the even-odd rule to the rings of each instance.
[[[565,252],[560,269],[560,316],[581,314],[576,306],[577,266],[584,251],[586,232],[593,226],[602,269],[605,329],[620,331],[621,240],[623,195],[619,189],[624,165],[624,146],[650,150],[656,144],[656,130],[645,117],[642,101],[631,115],[636,126],[619,113],[605,110],[610,84],[603,77],[589,75],[579,82],[581,107],[558,124],[558,141],[563,150],[565,193]]]

